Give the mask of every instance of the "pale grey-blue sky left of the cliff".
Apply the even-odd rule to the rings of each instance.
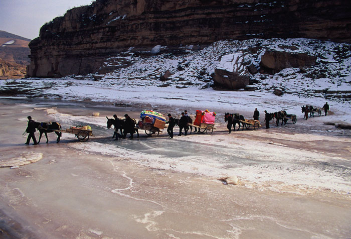
[[[0,0],[0,30],[34,39],[40,28],[74,7],[92,0]]]

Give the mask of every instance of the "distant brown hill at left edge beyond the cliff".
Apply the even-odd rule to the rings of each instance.
[[[22,78],[30,63],[30,39],[0,31],[0,79]]]

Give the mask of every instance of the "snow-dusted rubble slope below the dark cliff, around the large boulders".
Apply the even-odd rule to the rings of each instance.
[[[260,61],[266,49],[288,52],[302,52],[317,57],[317,65],[301,71],[299,68],[286,68],[274,75],[257,73],[250,78],[257,82],[259,90],[271,91],[283,88],[286,93],[326,98],[347,97],[351,92],[351,45],[311,39],[251,39],[246,41],[220,41],[200,51],[175,56],[158,53],[149,57],[123,53],[109,58],[106,66],[118,66],[129,61],[130,66],[103,75],[103,81],[129,87],[159,86],[170,88],[198,88],[213,86],[211,74],[220,63],[221,56],[246,52],[244,61],[260,70]],[[157,51],[155,49],[157,48]],[[150,52],[162,52],[166,47],[156,46]],[[167,81],[160,81],[160,75],[169,70]]]

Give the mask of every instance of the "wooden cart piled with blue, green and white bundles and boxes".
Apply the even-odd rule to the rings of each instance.
[[[144,130],[148,136],[158,136],[166,125],[166,117],[153,110],[141,111],[140,118],[136,129]]]

